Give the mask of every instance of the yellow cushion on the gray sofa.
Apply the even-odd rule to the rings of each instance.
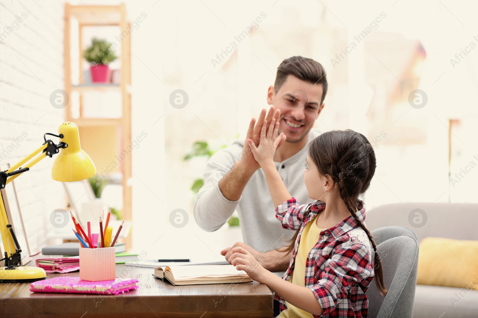
[[[478,241],[425,237],[418,253],[417,284],[478,290]]]

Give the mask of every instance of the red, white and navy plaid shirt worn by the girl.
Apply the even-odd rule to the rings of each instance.
[[[305,217],[308,208],[310,213]],[[315,201],[299,205],[293,197],[276,208],[276,217],[282,227],[299,230],[295,241],[289,268],[282,279],[289,281],[294,270],[295,256],[304,226],[324,210],[326,203]],[[365,220],[365,203],[359,200],[357,216]],[[352,216],[331,228],[320,232],[319,240],[309,252],[305,262],[305,287],[312,290],[322,307],[318,317],[366,318],[369,301],[365,292],[374,277],[371,259],[371,243],[365,231]],[[281,311],[286,309],[285,301],[275,295],[281,303]]]

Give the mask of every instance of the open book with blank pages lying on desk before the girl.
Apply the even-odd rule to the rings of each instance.
[[[191,265],[156,267],[152,276],[173,285],[246,283],[252,279],[233,265]]]

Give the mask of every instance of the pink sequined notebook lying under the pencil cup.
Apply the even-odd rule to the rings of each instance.
[[[138,279],[134,278],[116,278],[114,280],[102,280],[99,282],[90,282],[81,280],[80,277],[54,277],[50,279],[38,280],[30,284],[30,291],[37,293],[76,293],[76,294],[100,294],[117,295],[133,289]]]

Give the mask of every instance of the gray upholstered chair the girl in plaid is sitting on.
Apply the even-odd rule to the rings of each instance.
[[[412,318],[418,269],[418,242],[408,235],[392,237],[377,246],[383,282],[388,289],[382,296],[375,278],[367,290],[369,318]]]

